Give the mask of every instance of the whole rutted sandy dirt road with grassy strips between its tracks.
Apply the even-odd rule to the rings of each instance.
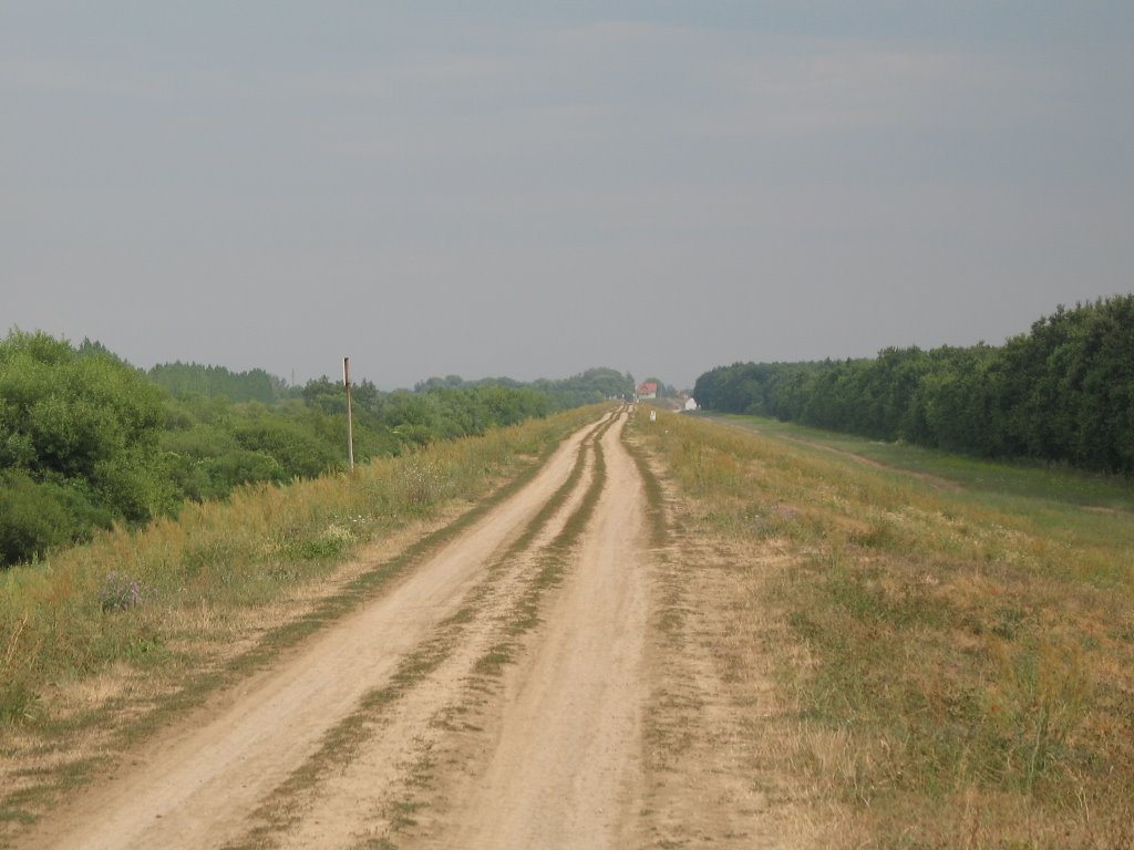
[[[644,732],[680,664],[661,657],[674,641],[657,635],[627,415],[568,439],[380,598],[158,736],[18,847],[668,845],[659,823],[677,809],[651,800],[674,798],[675,764],[696,749],[662,775]],[[696,678],[684,685],[716,687]],[[748,845],[734,821],[721,818]]]

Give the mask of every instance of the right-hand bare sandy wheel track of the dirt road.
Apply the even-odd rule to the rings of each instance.
[[[648,632],[641,481],[615,428],[608,486],[531,655],[505,682],[485,770],[441,847],[632,847]]]

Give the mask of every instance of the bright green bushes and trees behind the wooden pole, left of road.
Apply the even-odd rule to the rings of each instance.
[[[355,458],[400,454],[633,391],[615,369],[560,381],[431,379],[353,386]],[[0,566],[113,522],[174,516],[185,500],[339,470],[346,394],[323,377],[288,386],[262,369],[134,368],[105,347],[44,333],[0,340]]]

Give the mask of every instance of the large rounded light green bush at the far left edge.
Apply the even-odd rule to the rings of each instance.
[[[177,501],[160,474],[161,392],[95,343],[0,341],[0,563]]]

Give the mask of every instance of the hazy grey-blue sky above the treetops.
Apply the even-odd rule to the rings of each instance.
[[[0,0],[0,334],[139,366],[999,343],[1132,224],[1131,0]]]

